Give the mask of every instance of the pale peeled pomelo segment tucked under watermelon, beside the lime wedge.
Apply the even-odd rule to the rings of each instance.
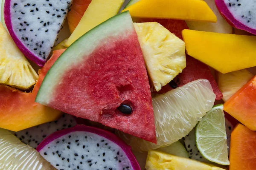
[[[151,150],[170,145],[189,134],[198,120],[211,110],[215,94],[208,80],[199,79],[152,99],[157,144],[117,132],[133,150]]]

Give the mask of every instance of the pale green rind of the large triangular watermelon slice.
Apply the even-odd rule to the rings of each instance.
[[[127,25],[127,20],[131,20],[131,25]],[[110,27],[111,25],[111,27]],[[92,30],[88,31],[78,40],[73,42],[72,45],[68,48],[69,50],[64,51],[63,54],[57,59],[57,61],[52,65],[48,73],[46,74],[44,81],[38,91],[35,102],[41,103],[43,105],[48,105],[50,99],[52,98],[52,92],[54,91],[54,85],[51,85],[52,82],[59,82],[60,78],[63,76],[63,72],[61,68],[69,68],[72,65],[76,65],[77,63],[84,60],[83,55],[90,54],[95,48],[96,44],[101,40],[108,37],[108,35],[116,35],[120,34],[122,36],[128,36],[127,34],[123,34],[125,31],[133,30],[134,26],[132,24],[132,19],[129,12],[123,12],[121,14],[116,15],[105,21],[104,23],[96,26]],[[101,32],[101,34],[99,34]],[[83,51],[78,51],[77,46],[80,41],[88,40],[90,44],[86,44],[86,46],[81,43],[80,48]],[[72,58],[67,58],[64,56],[71,56]],[[58,75],[56,75],[58,73]],[[58,79],[59,78],[59,79]],[[57,83],[56,83],[57,84]],[[55,85],[56,85],[55,84]]]

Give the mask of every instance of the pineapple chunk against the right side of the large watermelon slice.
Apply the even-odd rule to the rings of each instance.
[[[134,23],[146,68],[156,91],[186,67],[185,43],[159,23]]]

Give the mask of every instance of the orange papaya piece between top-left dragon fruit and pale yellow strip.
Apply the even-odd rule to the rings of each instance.
[[[67,22],[72,34],[76,26],[79,24],[84,12],[87,10],[92,0],[73,0],[69,13],[67,14]]]

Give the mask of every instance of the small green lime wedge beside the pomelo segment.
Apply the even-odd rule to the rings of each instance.
[[[223,105],[215,105],[195,128],[196,145],[209,161],[229,165]]]

